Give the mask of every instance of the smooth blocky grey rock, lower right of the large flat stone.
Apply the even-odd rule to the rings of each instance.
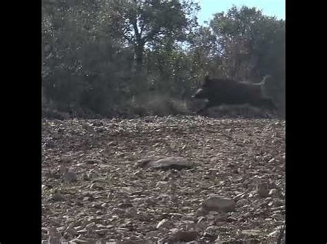
[[[208,211],[233,212],[235,201],[226,197],[210,197],[204,201],[203,207]]]

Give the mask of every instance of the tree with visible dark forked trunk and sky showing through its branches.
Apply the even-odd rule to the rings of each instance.
[[[192,1],[110,0],[108,27],[118,32],[134,47],[137,72],[142,70],[145,47],[153,47],[168,38],[184,41],[197,25],[199,10]]]

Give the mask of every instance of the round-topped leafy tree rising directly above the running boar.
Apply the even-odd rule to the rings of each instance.
[[[264,16],[256,8],[234,6],[226,14],[215,14],[210,27],[223,49],[228,76],[259,80],[267,73],[277,75],[273,64],[285,66],[276,62],[284,58],[285,21]]]

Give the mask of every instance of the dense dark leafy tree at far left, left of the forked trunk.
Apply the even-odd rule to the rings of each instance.
[[[58,109],[102,113],[123,100],[117,94],[126,81],[130,52],[122,38],[103,30],[103,3],[43,1],[42,88]]]

